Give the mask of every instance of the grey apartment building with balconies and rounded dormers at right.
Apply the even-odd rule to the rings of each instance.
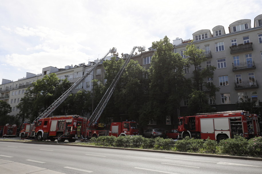
[[[209,104],[214,105],[217,111],[235,110],[235,104],[248,96],[261,105],[262,15],[255,17],[254,27],[250,19],[242,19],[231,23],[228,30],[229,33],[225,33],[224,27],[218,25],[212,31],[202,29],[192,34],[193,44],[203,49],[207,58],[201,67],[216,67],[214,76],[205,79],[205,82],[220,88],[214,101],[209,98]],[[186,58],[183,51],[189,41],[191,39],[173,40],[175,52],[183,58]],[[187,78],[193,76],[193,71],[193,67],[184,67]],[[208,91],[205,92],[209,96]],[[187,102],[181,101],[182,110],[186,109],[186,105]]]

